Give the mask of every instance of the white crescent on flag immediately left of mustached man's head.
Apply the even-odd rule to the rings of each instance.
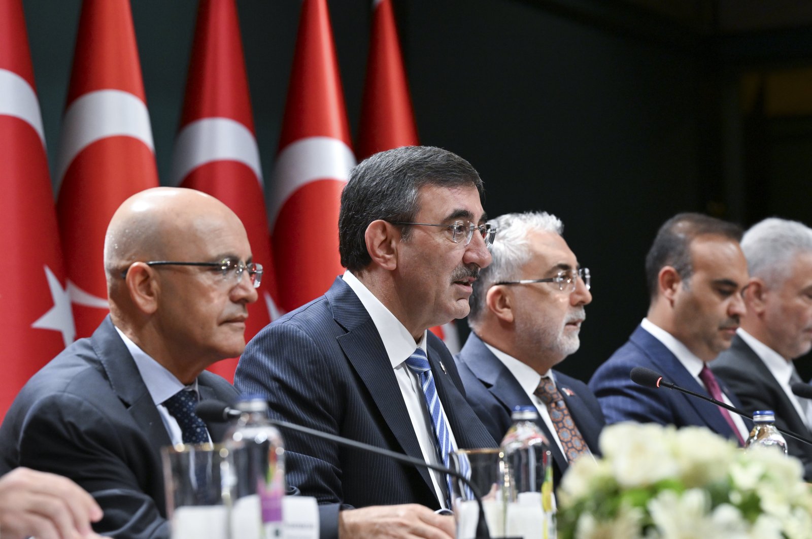
[[[287,144],[274,165],[274,194],[268,206],[271,232],[279,210],[296,189],[317,179],[347,181],[355,164],[352,149],[329,136],[309,136]]]

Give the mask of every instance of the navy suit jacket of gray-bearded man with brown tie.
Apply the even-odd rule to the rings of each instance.
[[[516,377],[476,334],[469,335],[464,347],[454,359],[465,386],[466,399],[495,439],[501,440],[510,428],[513,407],[535,407]],[[578,430],[581,431],[586,445],[595,455],[600,455],[598,437],[606,422],[603,420],[598,400],[584,382],[555,370],[553,372],[555,386],[561,391],[564,403]],[[546,423],[539,420],[538,426],[547,439],[552,440]],[[558,485],[560,476],[568,468],[568,461],[558,444],[552,443],[550,451],[555,463],[553,468],[555,485]]]

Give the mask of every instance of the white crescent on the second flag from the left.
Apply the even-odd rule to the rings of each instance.
[[[121,90],[97,90],[76,98],[65,112],[57,180],[62,182],[74,157],[108,136],[132,136],[155,151],[149,112],[144,101]]]

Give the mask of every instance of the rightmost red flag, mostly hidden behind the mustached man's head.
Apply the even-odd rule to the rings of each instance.
[[[361,124],[358,127],[359,161],[387,149],[420,144],[392,0],[373,2],[372,16]],[[453,321],[435,326],[431,331],[445,341],[452,354],[460,351],[460,339]]]

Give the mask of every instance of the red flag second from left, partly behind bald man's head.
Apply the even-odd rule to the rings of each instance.
[[[76,333],[87,337],[107,313],[107,223],[127,197],[158,186],[128,0],[84,0],[57,179]]]

